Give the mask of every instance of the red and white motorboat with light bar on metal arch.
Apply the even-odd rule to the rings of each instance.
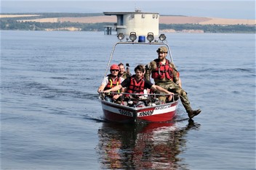
[[[142,46],[140,49],[147,50],[145,46],[166,46],[169,51],[170,61],[172,60],[172,54],[167,43],[164,43],[166,37],[164,34],[159,36],[159,41],[153,41],[154,37],[152,33],[148,33],[147,40],[145,42],[145,37],[139,36],[139,40],[135,42],[137,39],[136,33],[132,32],[127,38],[127,41],[122,42],[124,39],[124,35],[119,33],[117,36],[120,42],[117,42],[113,45],[113,49],[111,51],[111,56],[109,58],[107,68],[105,70],[105,75],[107,75],[108,70],[110,69],[111,62],[113,56],[116,51],[116,46]],[[127,55],[125,57],[129,57],[132,55]],[[119,93],[122,95],[132,95],[135,96],[136,100],[127,101],[124,103],[115,103],[111,101],[107,101],[104,98],[104,93],[100,93],[100,101],[103,108],[103,113],[105,119],[111,122],[167,122],[171,121],[177,114],[177,106],[179,97],[175,95],[172,97],[172,101],[163,102],[158,100],[158,93]],[[163,94],[161,94],[163,95]]]

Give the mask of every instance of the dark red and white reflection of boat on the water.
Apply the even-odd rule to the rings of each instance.
[[[104,122],[98,130],[102,169],[186,169],[177,156],[185,148],[184,135],[200,124],[114,124]],[[184,162],[184,161],[183,161]]]

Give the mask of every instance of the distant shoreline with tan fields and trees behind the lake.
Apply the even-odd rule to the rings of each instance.
[[[1,30],[104,31],[113,25],[115,15],[80,13],[0,14]],[[255,33],[256,20],[163,15],[162,33]]]

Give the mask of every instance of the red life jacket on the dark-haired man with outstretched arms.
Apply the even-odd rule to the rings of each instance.
[[[131,77],[131,82],[129,84],[129,87],[127,88],[127,93],[144,93],[145,87],[145,80],[144,77],[139,80],[139,82],[136,81],[135,75]]]

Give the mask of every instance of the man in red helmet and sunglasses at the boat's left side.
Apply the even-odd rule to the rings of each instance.
[[[111,74],[107,75],[103,81],[101,82],[100,87],[98,88],[97,92],[100,93],[103,90],[108,90],[116,85],[120,85],[121,82],[124,81],[124,78],[119,77],[119,66],[116,64],[111,65]],[[117,90],[116,90],[117,91]],[[120,93],[120,91],[117,91]],[[105,94],[106,101],[116,101],[117,99],[121,100],[121,94]]]

